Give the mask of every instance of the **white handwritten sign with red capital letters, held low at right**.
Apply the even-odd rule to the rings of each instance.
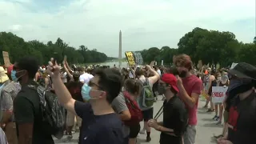
[[[214,103],[222,103],[224,98],[226,97],[227,86],[213,86],[212,87],[212,102]]]

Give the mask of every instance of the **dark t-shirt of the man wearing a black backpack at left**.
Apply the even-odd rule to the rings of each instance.
[[[33,85],[36,83],[31,82]],[[30,83],[30,84],[31,84]],[[51,134],[42,132],[42,113],[39,106],[39,96],[36,90],[22,86],[14,99],[14,118],[17,127],[22,123],[34,123],[33,144],[54,144]]]

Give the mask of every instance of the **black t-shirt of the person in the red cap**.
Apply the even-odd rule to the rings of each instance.
[[[174,130],[178,137],[162,132],[160,135],[160,144],[182,144],[182,134],[186,129],[188,115],[184,103],[174,96],[163,105],[163,126]]]

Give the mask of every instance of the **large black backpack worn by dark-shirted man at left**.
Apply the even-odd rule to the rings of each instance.
[[[58,102],[56,94],[46,90],[43,86],[29,87],[37,90],[40,98],[40,110],[42,114],[42,130],[47,134],[52,134],[56,138],[63,137],[65,124],[65,109]]]

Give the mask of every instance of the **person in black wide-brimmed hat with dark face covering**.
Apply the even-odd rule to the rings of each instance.
[[[256,67],[239,62],[229,70],[232,79],[227,90],[229,109],[228,134],[218,138],[218,144],[256,142]]]

